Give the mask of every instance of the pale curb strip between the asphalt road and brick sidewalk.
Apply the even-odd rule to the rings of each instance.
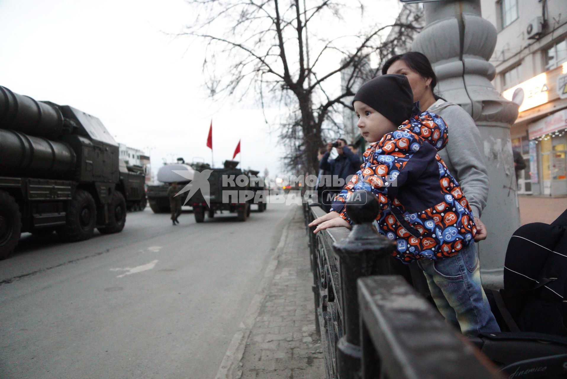
[[[295,210],[295,212],[297,212],[297,210]],[[289,220],[293,220],[295,212],[291,214]],[[276,271],[276,267],[278,265],[280,252],[285,246],[289,225],[290,222],[286,224],[284,231],[282,231],[276,251],[274,251],[272,259],[270,259],[268,267],[266,267],[266,271],[264,271],[264,277],[260,280],[256,294],[252,298],[242,322],[240,322],[240,330],[232,336],[229,348],[226,350],[225,357],[222,359],[221,367],[219,367],[215,379],[234,378],[234,372],[235,369],[238,368],[238,363],[242,360],[248,336],[250,335],[252,326],[254,326],[256,318],[260,313],[260,308],[264,302],[264,298],[266,297],[268,286],[272,283],[272,277],[274,276],[274,271]]]

